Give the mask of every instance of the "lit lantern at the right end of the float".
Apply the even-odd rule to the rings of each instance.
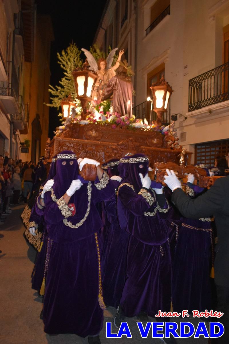
[[[161,125],[164,112],[167,112],[169,98],[173,92],[172,87],[164,79],[162,75],[159,83],[153,83],[150,87],[153,96],[153,111],[157,112],[156,122]]]

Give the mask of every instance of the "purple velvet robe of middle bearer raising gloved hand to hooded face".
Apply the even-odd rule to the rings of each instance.
[[[167,213],[156,211],[156,194],[150,191],[154,202],[131,187],[119,188],[117,211],[119,223],[130,234],[127,255],[127,279],[120,304],[128,317],[144,311],[154,317],[158,310],[170,311],[171,260],[168,243]],[[167,206],[166,206],[167,207]]]

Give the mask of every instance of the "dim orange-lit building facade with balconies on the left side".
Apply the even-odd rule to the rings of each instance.
[[[0,0],[0,154],[12,159],[44,154],[52,40],[50,17],[36,13],[34,0]]]

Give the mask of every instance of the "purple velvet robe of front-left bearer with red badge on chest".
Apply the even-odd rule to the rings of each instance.
[[[54,180],[56,183],[56,177]],[[69,203],[76,206],[76,214],[67,220],[73,225],[79,223],[87,211],[87,186],[88,183],[84,183],[70,198]],[[100,230],[102,223],[95,203],[113,194],[114,186],[110,181],[101,190],[92,183],[89,215],[81,226],[71,228],[63,223],[65,217],[52,200],[50,192],[45,193],[44,218],[48,237],[52,240],[43,309],[46,333],[74,333],[85,337],[96,335],[102,329],[103,311],[98,301],[98,251],[95,241],[95,233]],[[56,196],[60,197],[60,194]]]

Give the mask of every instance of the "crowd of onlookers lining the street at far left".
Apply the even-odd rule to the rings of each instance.
[[[0,225],[12,212],[11,206],[27,202],[32,196],[35,166],[32,161],[13,160],[8,153],[0,155]]]

